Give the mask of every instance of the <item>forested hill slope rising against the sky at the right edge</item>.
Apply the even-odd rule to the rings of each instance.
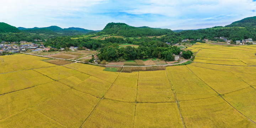
[[[247,17],[240,21],[235,21],[231,23],[230,25],[227,25],[225,27],[252,27],[256,28],[256,16],[254,17]]]

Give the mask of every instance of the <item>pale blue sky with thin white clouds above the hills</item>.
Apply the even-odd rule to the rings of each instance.
[[[0,0],[0,22],[15,27],[81,27],[109,22],[198,29],[256,16],[256,0]]]

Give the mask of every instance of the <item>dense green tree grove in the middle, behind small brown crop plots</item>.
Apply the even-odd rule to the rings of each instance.
[[[160,58],[165,60],[174,60],[173,54],[180,54],[181,50],[177,46],[168,46],[163,42],[151,41],[140,44],[138,48],[131,46],[118,48],[118,45],[112,44],[100,49],[98,58],[100,60],[117,61],[119,59],[135,60],[146,58]]]

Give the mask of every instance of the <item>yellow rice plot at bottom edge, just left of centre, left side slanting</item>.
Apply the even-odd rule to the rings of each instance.
[[[82,128],[133,127],[135,103],[102,100]]]

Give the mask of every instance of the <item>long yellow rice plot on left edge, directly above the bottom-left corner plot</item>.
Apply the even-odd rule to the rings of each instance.
[[[0,119],[6,118],[26,108],[35,106],[52,98],[69,87],[59,82],[49,82],[30,89],[20,90],[0,96]]]

